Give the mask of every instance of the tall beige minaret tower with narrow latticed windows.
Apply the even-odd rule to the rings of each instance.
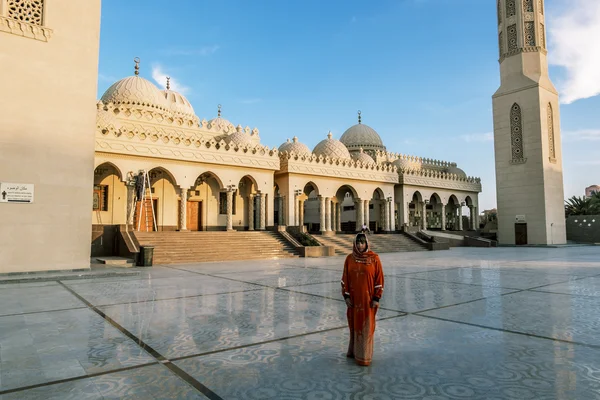
[[[496,0],[500,88],[493,96],[498,241],[564,244],[558,92],[548,76],[544,0]]]

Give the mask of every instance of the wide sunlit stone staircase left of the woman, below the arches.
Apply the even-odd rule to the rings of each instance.
[[[153,264],[298,257],[275,232],[134,232],[141,246],[154,246]]]

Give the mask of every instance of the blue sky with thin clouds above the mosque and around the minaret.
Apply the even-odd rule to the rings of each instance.
[[[600,2],[546,0],[559,88],[565,197],[600,184]],[[499,86],[493,0],[103,0],[98,97],[141,76],[217,104],[279,146],[314,147],[356,123],[388,150],[457,162],[495,207],[491,96]]]

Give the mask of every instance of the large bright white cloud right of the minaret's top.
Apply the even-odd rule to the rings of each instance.
[[[548,8],[549,62],[563,67],[561,102],[600,94],[600,1],[556,0]]]

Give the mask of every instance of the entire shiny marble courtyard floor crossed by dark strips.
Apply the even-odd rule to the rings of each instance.
[[[381,259],[366,368],[343,257],[0,285],[0,400],[600,400],[600,247]]]

